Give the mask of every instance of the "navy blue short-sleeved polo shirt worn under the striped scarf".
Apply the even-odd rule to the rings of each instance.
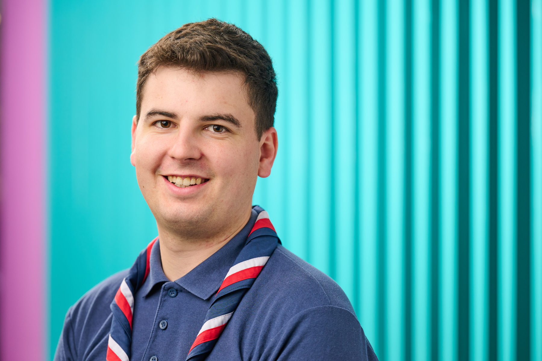
[[[225,274],[256,221],[192,271],[165,277],[160,248],[135,293],[131,361],[184,361]],[[111,327],[109,305],[128,271],[112,275],[70,307],[55,361],[104,361]],[[152,360],[155,360],[152,358]],[[208,361],[377,360],[341,288],[279,245],[244,295]]]

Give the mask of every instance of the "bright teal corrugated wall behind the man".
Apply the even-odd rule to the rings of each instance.
[[[208,17],[278,74],[254,203],[379,359],[542,361],[542,0],[51,0],[51,355],[156,234],[128,159],[138,56]]]

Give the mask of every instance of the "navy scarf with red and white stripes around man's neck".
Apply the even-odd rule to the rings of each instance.
[[[203,326],[194,340],[186,360],[204,360],[215,346],[218,337],[235,312],[244,294],[260,274],[270,255],[279,243],[269,215],[261,207],[253,208],[258,216],[247,242],[225,275],[222,285],[207,311]],[[150,272],[151,249],[154,239],[135,260],[128,277],[122,280],[111,303],[113,320],[107,345],[107,361],[130,361],[132,343],[132,315],[134,294],[145,283]]]

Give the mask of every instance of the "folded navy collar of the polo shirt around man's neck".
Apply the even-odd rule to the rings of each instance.
[[[211,297],[222,284],[225,275],[228,273],[230,267],[233,266],[237,255],[246,244],[248,234],[254,226],[256,218],[257,213],[253,209],[250,219],[239,233],[222,246],[220,250],[193,268],[192,271],[177,279],[175,283],[201,299],[205,300]],[[155,242],[152,246],[149,261],[151,268],[149,278],[141,286],[141,292],[144,296],[147,296],[154,289],[154,285],[169,282],[162,269],[162,259],[160,258],[158,242]]]

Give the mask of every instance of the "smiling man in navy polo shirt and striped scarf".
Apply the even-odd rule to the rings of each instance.
[[[158,237],[69,309],[55,360],[376,360],[340,287],[251,206],[277,95],[262,45],[216,19],[141,56],[131,162]]]

